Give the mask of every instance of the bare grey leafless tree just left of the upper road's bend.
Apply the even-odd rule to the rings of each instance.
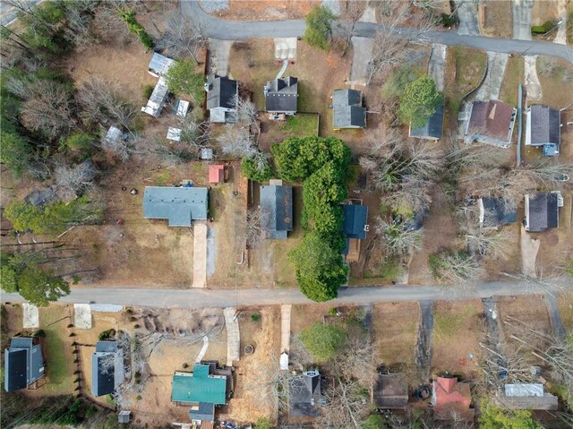
[[[197,56],[206,43],[201,28],[178,12],[167,19],[166,30],[158,39],[156,47],[167,49],[172,56],[189,55],[195,64],[199,64]]]

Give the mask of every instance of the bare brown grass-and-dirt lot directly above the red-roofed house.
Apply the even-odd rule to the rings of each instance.
[[[479,342],[484,331],[482,302],[438,302],[433,317],[433,371],[449,371],[465,378],[478,376]]]

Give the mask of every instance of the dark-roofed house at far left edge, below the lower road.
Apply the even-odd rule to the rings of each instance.
[[[25,389],[44,376],[44,357],[38,338],[14,337],[4,349],[4,390]]]

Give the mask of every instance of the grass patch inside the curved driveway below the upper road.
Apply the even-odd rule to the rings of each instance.
[[[457,118],[462,97],[475,89],[483,78],[487,56],[470,47],[449,47],[446,57],[446,83],[444,96],[446,109]]]

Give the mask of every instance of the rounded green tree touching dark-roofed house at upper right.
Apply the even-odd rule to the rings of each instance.
[[[413,128],[423,126],[440,106],[441,95],[431,76],[422,76],[406,85],[400,99],[400,117]]]

